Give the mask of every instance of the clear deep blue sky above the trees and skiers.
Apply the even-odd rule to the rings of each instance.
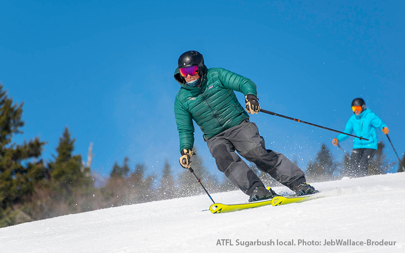
[[[14,140],[47,141],[49,161],[68,126],[85,161],[94,143],[99,175],[125,156],[156,174],[166,159],[181,171],[173,72],[180,54],[197,50],[209,68],[251,78],[263,109],[328,128],[342,131],[351,101],[362,97],[402,158],[404,12],[402,1],[3,1],[0,81],[24,102],[26,122]],[[263,113],[251,121],[268,149],[304,170],[322,143],[342,160],[333,132]],[[217,173],[199,128],[195,140]]]

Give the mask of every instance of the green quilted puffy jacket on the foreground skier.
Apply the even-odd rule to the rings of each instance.
[[[199,87],[189,87],[181,78],[179,68],[174,73],[181,85],[174,103],[180,151],[193,148],[193,119],[208,140],[249,118],[233,91],[257,96],[256,85],[249,78],[223,68],[205,67],[204,72]]]

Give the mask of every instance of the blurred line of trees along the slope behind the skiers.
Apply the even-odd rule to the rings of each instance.
[[[111,168],[107,183],[95,187],[90,163],[85,164],[81,155],[74,155],[75,139],[65,128],[49,162],[42,158],[46,142],[34,138],[22,144],[13,142],[21,134],[23,103],[13,104],[0,83],[0,227],[29,221],[53,218],[149,201],[205,194],[188,170],[175,176],[167,160],[160,176],[150,174],[141,163],[131,169],[128,157]],[[386,161],[384,144],[379,149],[369,173],[384,174],[393,163]],[[197,152],[198,153],[198,152]],[[193,156],[193,168],[198,172],[210,193],[236,190],[229,180],[216,177],[204,166],[202,157]],[[402,158],[404,164],[405,155]],[[336,180],[348,173],[348,159],[336,162],[325,144],[316,158],[309,162],[306,177],[309,182]],[[266,185],[278,184],[268,175],[260,173],[250,164]],[[398,168],[400,171],[400,167]]]

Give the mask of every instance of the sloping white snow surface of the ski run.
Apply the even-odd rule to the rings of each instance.
[[[326,197],[211,214],[211,200],[200,195],[20,224],[0,229],[0,252],[405,252],[405,173],[312,185]],[[248,199],[240,191],[212,197]],[[337,239],[365,245],[324,245]],[[270,245],[240,245],[257,241]]]

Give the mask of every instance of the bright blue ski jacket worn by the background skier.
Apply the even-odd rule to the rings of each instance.
[[[366,108],[358,116],[353,113],[349,120],[347,120],[344,133],[352,134],[355,136],[369,139],[360,140],[355,138],[353,141],[353,149],[355,148],[372,148],[377,149],[377,129],[382,130],[387,126],[380,117],[378,117],[372,110]],[[342,142],[349,138],[348,135],[340,134],[336,136],[339,142]]]

